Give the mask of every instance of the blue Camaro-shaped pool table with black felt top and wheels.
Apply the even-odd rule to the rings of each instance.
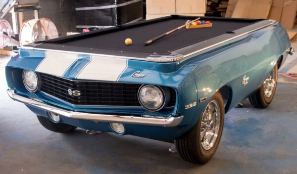
[[[172,15],[24,45],[6,66],[8,95],[48,130],[77,127],[175,143],[189,162],[218,148],[225,114],[248,98],[271,103],[277,71],[294,53],[281,24],[269,19]],[[131,38],[132,45],[125,45]]]

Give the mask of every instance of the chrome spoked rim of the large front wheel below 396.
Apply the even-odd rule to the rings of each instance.
[[[213,147],[220,129],[221,112],[219,103],[212,100],[206,106],[200,125],[200,141],[204,150]]]

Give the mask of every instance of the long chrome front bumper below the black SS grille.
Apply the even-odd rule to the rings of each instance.
[[[51,106],[49,104],[23,97],[14,93],[14,90],[7,89],[7,93],[10,98],[15,101],[22,102],[26,105],[33,106],[38,109],[42,109],[48,112],[59,114],[61,116],[74,118],[74,119],[83,119],[83,120],[92,120],[95,122],[109,122],[109,123],[123,123],[123,124],[135,124],[135,125],[148,125],[148,126],[163,126],[163,127],[175,127],[178,126],[184,116],[180,117],[134,117],[134,116],[119,116],[119,115],[106,115],[106,114],[93,114],[93,113],[84,113],[84,112],[75,112],[68,111],[61,108]]]

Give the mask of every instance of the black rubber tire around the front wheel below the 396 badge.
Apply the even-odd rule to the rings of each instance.
[[[211,157],[213,156],[213,154],[216,152],[218,148],[218,145],[222,136],[223,126],[224,126],[225,110],[224,110],[224,101],[219,91],[212,96],[212,98],[210,99],[210,102],[213,100],[217,101],[220,109],[220,122],[219,122],[219,131],[217,134],[217,138],[215,139],[215,142],[213,143],[213,146],[210,149],[205,150],[202,147],[201,140],[200,140],[200,129],[201,129],[202,114],[203,114],[202,113],[198,122],[192,128],[191,131],[189,131],[183,137],[174,140],[174,143],[179,155],[185,161],[188,161],[191,163],[204,164],[211,159]]]

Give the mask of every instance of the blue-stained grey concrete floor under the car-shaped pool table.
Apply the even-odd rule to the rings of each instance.
[[[280,71],[297,73],[297,54]],[[205,165],[146,138],[50,132],[6,88],[0,68],[0,174],[297,174],[297,81],[283,76],[267,109],[244,102],[226,115],[220,146]]]

